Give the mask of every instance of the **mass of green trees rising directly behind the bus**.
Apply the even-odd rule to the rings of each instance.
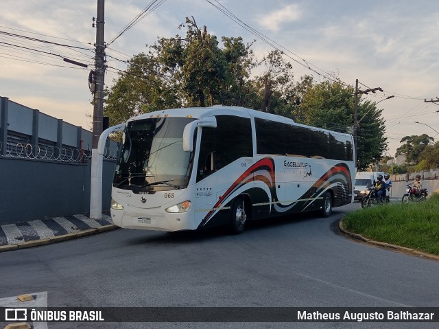
[[[161,109],[225,104],[353,133],[352,86],[340,80],[316,83],[312,76],[296,82],[291,63],[277,50],[257,61],[252,43],[245,45],[240,37],[223,36],[220,45],[193,18],[179,28],[186,29],[185,38],[158,38],[147,54],[134,56],[115,84],[106,89],[104,115],[110,117],[110,124]],[[259,68],[263,73],[252,74]],[[363,116],[358,131],[358,170],[379,159],[386,146],[381,110],[360,99],[358,117]]]

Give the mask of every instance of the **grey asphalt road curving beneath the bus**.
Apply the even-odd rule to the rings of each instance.
[[[0,253],[0,306],[2,299],[4,304],[23,293],[47,296],[50,307],[439,306],[438,261],[340,235],[338,220],[357,207],[336,208],[329,218],[263,220],[239,236],[222,230],[117,229]],[[82,323],[45,328],[438,328],[438,323]]]

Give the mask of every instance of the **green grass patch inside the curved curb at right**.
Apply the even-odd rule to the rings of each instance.
[[[439,255],[439,195],[427,201],[359,209],[342,219],[365,238]]]

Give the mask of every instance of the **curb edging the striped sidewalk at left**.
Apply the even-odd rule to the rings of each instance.
[[[51,238],[21,242],[21,243],[16,243],[14,245],[0,246],[0,253],[5,251],[26,249],[31,247],[43,246],[43,245],[51,245],[57,242],[68,241],[77,238],[82,238],[84,236],[92,236],[95,234],[104,233],[106,231],[112,231],[113,229],[117,229],[117,226],[111,224],[93,229],[84,229],[84,231],[79,231],[78,233],[70,233],[70,234],[64,234],[62,236],[54,236]]]

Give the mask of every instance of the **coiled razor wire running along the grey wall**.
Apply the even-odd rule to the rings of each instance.
[[[3,144],[0,141],[0,159],[5,157],[81,163],[91,159],[91,151],[78,148],[32,145],[30,143],[8,143],[5,154],[3,155]],[[105,148],[104,159],[117,159],[117,150],[114,148]]]

